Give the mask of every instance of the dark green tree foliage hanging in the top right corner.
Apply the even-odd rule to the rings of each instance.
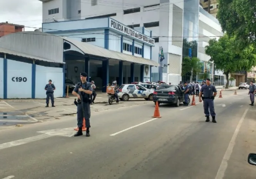
[[[239,47],[256,43],[256,0],[219,0],[217,18],[223,31],[239,40]]]

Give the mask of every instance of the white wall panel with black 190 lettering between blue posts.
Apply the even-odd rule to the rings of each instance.
[[[7,60],[7,98],[32,98],[32,64]]]

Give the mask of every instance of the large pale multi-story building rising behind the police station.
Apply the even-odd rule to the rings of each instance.
[[[43,2],[43,22],[111,17],[128,27],[144,27],[152,31],[152,38],[155,40],[154,47],[152,47],[152,60],[160,63],[159,50],[161,47],[164,55],[162,66],[152,67],[153,81],[159,80],[159,77],[163,81],[171,83],[187,80],[187,77],[181,78],[182,58],[188,56],[190,49],[184,45],[184,41],[195,43],[192,48],[192,56],[198,57],[202,61],[208,61],[209,57],[206,58],[199,52],[200,45],[203,47],[207,45],[207,43],[200,42],[199,32],[201,34],[204,32],[204,36],[211,36],[209,38],[220,36],[220,33],[210,32],[220,29],[220,25],[215,23],[216,19],[211,20],[214,19],[211,15],[206,17],[210,19],[209,21],[204,20],[209,27],[200,30],[199,19],[202,12],[199,10],[198,0],[40,1]],[[214,24],[211,25],[211,22]],[[209,40],[209,38],[207,39]],[[196,80],[197,76],[193,79]]]

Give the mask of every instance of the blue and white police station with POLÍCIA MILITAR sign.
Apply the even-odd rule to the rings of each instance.
[[[0,98],[45,98],[51,79],[55,97],[65,96],[65,83],[87,72],[98,90],[150,81],[154,39],[144,27],[132,29],[112,18],[43,23],[39,31],[0,38]],[[18,91],[16,90],[17,88]]]

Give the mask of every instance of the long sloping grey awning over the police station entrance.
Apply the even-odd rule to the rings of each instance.
[[[148,60],[146,58],[141,58],[133,55],[127,55],[125,53],[120,53],[117,51],[107,50],[105,48],[91,45],[88,43],[83,43],[77,40],[73,40],[71,38],[62,37],[64,40],[72,43],[77,48],[79,48],[81,51],[83,51],[85,54],[89,55],[95,55],[95,56],[102,56],[104,58],[108,59],[114,59],[114,60],[122,60],[122,61],[128,61],[131,63],[138,63],[142,65],[150,65],[150,66],[159,66],[159,63]]]

